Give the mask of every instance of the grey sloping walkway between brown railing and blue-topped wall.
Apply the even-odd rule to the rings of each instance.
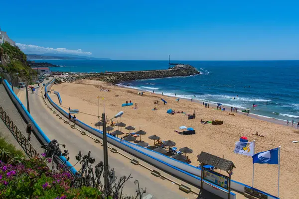
[[[3,85],[0,85],[0,104],[5,109],[7,114],[13,120],[15,125],[20,129],[20,131],[27,136],[26,125],[27,123],[23,120],[22,116],[19,114],[17,108],[9,98]],[[5,124],[3,124],[5,125]],[[8,129],[7,129],[8,130]],[[11,135],[12,136],[12,135]],[[12,136],[13,137],[13,136]],[[30,143],[36,149],[37,152],[43,153],[43,149],[40,148],[41,144],[35,137],[34,133],[31,134]]]

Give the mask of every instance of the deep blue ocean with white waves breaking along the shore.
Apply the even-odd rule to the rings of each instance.
[[[168,61],[36,60],[62,67],[52,71],[105,72],[167,69]],[[173,61],[201,75],[123,82],[144,91],[249,108],[250,113],[299,121],[299,61]],[[194,97],[195,96],[195,97]],[[257,105],[253,108],[253,104]]]

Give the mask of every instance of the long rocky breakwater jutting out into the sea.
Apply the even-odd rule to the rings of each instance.
[[[106,72],[106,73],[88,73],[63,75],[56,78],[56,83],[73,82],[75,80],[97,80],[117,84],[125,81],[140,79],[155,79],[178,76],[190,76],[200,74],[193,66],[179,64],[167,70],[149,70],[149,71],[128,71],[128,72]]]

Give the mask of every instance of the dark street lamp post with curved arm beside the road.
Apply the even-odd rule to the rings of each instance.
[[[121,117],[124,114],[123,111],[120,111],[117,113],[113,118],[109,119],[107,122],[110,120]],[[107,147],[107,131],[106,131],[106,116],[105,113],[102,114],[103,118],[103,147],[104,147],[104,183],[105,183],[105,188],[108,186],[108,171],[109,171],[109,164],[108,164],[108,147]]]

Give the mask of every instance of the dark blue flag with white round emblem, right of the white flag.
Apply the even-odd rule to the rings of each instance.
[[[260,152],[252,156],[253,163],[278,165],[279,148]]]

